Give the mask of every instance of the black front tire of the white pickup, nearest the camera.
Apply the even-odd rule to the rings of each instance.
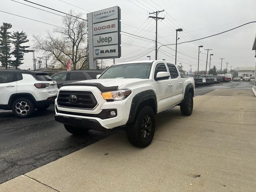
[[[127,127],[127,138],[133,146],[144,148],[154,137],[156,127],[155,114],[150,106],[137,112],[134,122]]]

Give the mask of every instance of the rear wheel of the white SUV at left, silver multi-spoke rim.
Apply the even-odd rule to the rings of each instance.
[[[35,111],[34,102],[27,98],[18,98],[12,103],[12,112],[19,118],[31,116]]]

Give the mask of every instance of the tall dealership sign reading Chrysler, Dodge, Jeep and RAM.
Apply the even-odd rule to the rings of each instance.
[[[120,8],[118,6],[87,14],[88,50],[93,59],[120,58]]]

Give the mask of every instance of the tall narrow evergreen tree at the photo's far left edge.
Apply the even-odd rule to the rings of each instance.
[[[8,64],[10,64],[11,60],[11,36],[8,29],[12,28],[10,23],[3,23],[0,27],[0,62],[2,66],[5,66],[7,69]]]

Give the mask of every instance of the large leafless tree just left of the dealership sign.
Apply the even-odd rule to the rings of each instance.
[[[52,56],[52,63],[57,62],[62,68],[66,69],[69,59],[74,70],[88,68],[86,22],[79,19],[80,13],[70,10],[69,14],[75,17],[64,16],[62,26],[52,33],[47,31],[46,38],[33,35],[34,49]]]

